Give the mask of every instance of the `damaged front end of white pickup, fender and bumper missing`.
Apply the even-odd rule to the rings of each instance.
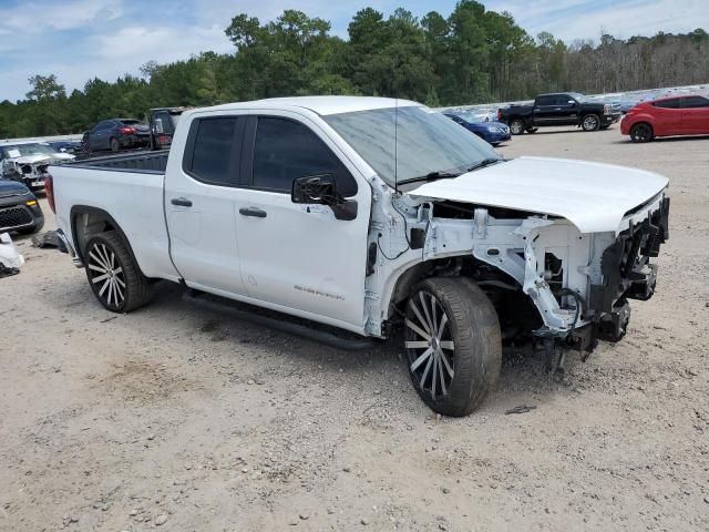
[[[515,164],[500,167],[510,173]],[[395,320],[397,305],[422,277],[458,276],[485,290],[497,310],[503,341],[544,346],[548,370],[563,371],[568,350],[585,359],[598,340],[625,336],[628,300],[646,300],[655,293],[657,266],[651,259],[669,236],[666,181],[658,182],[659,188],[654,185],[660,192],[638,206],[625,212],[615,207],[616,218],[600,205],[593,215],[596,207],[582,207],[580,201],[572,206],[577,214],[566,217],[559,208],[556,214],[530,209],[531,201],[474,203],[473,196],[484,194],[455,182],[425,184],[409,194],[376,194],[380,205],[374,205],[370,245],[382,253],[368,284],[370,295],[384,294],[381,321]],[[511,208],[512,203],[525,208]],[[381,258],[395,257],[407,246],[395,260]],[[382,275],[382,269],[388,272]],[[376,329],[381,321],[371,319],[371,307]]]

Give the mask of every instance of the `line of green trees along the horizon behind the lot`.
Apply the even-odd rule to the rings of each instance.
[[[93,78],[66,93],[55,74],[30,78],[24,100],[0,102],[0,139],[80,133],[109,117],[151,108],[212,105],[260,98],[361,94],[432,106],[531,99],[540,92],[602,93],[709,81],[709,34],[658,33],[565,43],[535,37],[507,12],[461,0],[449,17],[366,8],[331,34],[327,20],[286,10],[263,23],[238,14],[225,29],[234,53],[151,61],[141,75]]]

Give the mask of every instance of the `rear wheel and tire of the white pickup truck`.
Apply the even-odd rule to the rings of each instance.
[[[130,313],[148,303],[152,285],[114,231],[86,243],[84,263],[96,299],[112,313]]]

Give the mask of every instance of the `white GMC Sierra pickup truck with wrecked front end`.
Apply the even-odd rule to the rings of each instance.
[[[449,416],[495,386],[503,342],[538,342],[558,369],[568,349],[619,340],[668,237],[667,178],[505,160],[402,100],[196,109],[169,154],[50,173],[60,236],[106,309],[133,310],[168,279],[265,307],[253,314],[274,326],[399,332],[415,390]]]

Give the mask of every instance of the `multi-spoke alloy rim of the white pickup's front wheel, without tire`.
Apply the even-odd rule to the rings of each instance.
[[[404,346],[409,370],[421,391],[436,399],[445,396],[455,377],[455,342],[444,307],[421,290],[409,300]]]

